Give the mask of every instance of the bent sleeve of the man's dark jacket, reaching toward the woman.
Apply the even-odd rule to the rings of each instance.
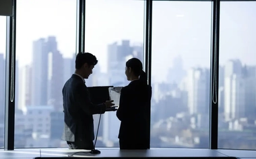
[[[89,97],[88,89],[84,85],[77,85],[77,99],[79,107],[82,107],[84,112],[88,115],[105,113],[106,105],[94,105]]]

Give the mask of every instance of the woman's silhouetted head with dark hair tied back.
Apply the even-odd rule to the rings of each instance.
[[[143,71],[142,63],[137,58],[131,58],[126,62],[125,75],[128,81],[138,79],[147,83],[146,72]]]

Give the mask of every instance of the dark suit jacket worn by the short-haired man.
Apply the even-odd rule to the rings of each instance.
[[[62,139],[68,142],[94,140],[92,115],[104,113],[106,106],[91,103],[88,88],[82,78],[76,74],[73,74],[65,83],[62,94],[65,115]]]

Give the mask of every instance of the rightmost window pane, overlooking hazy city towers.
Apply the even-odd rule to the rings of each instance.
[[[220,3],[218,147],[256,148],[256,2]]]

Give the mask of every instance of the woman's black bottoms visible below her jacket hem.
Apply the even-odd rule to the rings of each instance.
[[[147,140],[121,140],[119,139],[120,150],[147,150]]]

